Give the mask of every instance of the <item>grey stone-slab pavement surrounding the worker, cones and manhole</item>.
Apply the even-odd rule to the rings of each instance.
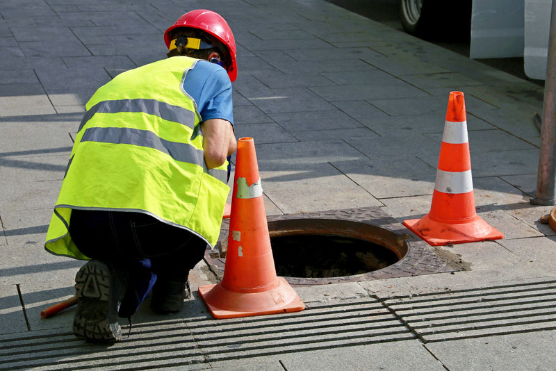
[[[236,134],[255,140],[268,215],[423,216],[460,90],[477,213],[505,238],[430,249],[463,271],[296,287],[300,313],[213,320],[195,292],[178,315],[141,308],[110,346],[72,336],[74,308],[40,318],[82,265],[43,244],[85,101],[164,58],[195,8],[234,31]],[[0,370],[553,370],[556,233],[529,203],[539,86],[322,0],[1,0],[0,55]],[[193,288],[215,280],[201,263]]]

